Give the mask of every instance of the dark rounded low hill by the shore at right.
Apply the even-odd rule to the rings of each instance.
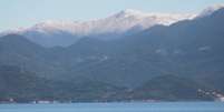
[[[205,95],[201,93],[198,91],[199,89],[211,91],[211,89],[202,85],[202,83],[197,83],[189,79],[176,75],[163,75],[154,78],[140,88],[137,88],[133,94],[134,99],[142,100],[149,98],[165,101],[196,101],[214,99],[213,95]]]

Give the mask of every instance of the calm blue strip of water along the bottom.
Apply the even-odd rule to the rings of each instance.
[[[0,104],[0,112],[224,112],[224,103]]]

